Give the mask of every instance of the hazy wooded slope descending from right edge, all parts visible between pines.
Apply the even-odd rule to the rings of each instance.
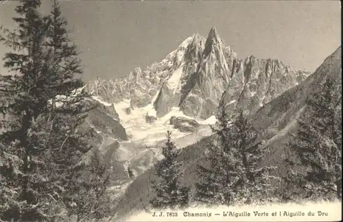
[[[287,166],[283,164],[282,157],[287,149],[289,136],[287,132],[296,130],[296,119],[305,110],[305,100],[316,90],[320,90],[320,84],[328,76],[338,79],[342,84],[341,76],[341,47],[331,56],[324,60],[323,64],[316,72],[307,77],[304,82],[294,88],[287,90],[279,97],[272,99],[259,111],[250,115],[252,123],[260,132],[261,140],[265,140],[265,145],[269,145],[270,153],[261,164],[273,164],[278,167],[276,175],[283,175]],[[203,138],[200,142],[182,149],[179,161],[184,162],[185,176],[183,184],[193,186],[198,181],[195,169],[196,164],[204,164],[206,158],[204,152],[211,137]],[[149,201],[152,198],[150,180],[156,178],[154,169],[149,169],[127,188],[126,193],[117,206],[118,217],[124,217],[135,210],[149,208]],[[282,189],[282,184],[279,184]]]

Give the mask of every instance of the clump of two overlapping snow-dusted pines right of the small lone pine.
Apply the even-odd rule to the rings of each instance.
[[[230,118],[224,109],[217,118],[209,147],[209,167],[199,166],[200,183],[196,196],[209,204],[251,204],[270,200],[274,190],[270,172],[276,167],[261,166],[268,147],[257,142],[257,131],[239,112]]]

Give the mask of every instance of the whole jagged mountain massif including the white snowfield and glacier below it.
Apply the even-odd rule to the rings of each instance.
[[[161,158],[167,130],[185,147],[211,135],[218,108],[253,114],[308,75],[279,60],[239,59],[212,27],[207,38],[193,34],[161,62],[120,79],[93,79],[86,88],[126,130],[128,141],[113,155],[137,176]]]

